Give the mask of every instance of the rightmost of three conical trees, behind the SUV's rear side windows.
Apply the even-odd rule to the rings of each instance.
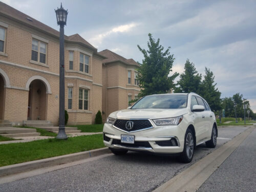
[[[212,111],[221,109],[221,92],[216,88],[214,73],[205,68],[204,80],[202,81],[201,96],[208,102]]]

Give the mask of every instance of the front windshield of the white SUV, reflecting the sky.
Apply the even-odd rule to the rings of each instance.
[[[131,109],[180,109],[186,106],[187,95],[152,95],[143,97]]]

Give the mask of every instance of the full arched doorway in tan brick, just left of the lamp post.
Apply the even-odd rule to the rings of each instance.
[[[46,120],[47,88],[39,79],[29,84],[28,120]]]

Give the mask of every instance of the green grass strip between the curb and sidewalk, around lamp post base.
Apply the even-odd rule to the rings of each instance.
[[[0,166],[94,150],[104,147],[102,134],[71,137],[67,140],[44,139],[0,145]]]

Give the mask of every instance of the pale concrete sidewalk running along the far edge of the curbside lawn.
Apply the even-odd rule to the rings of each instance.
[[[102,134],[102,132],[97,133],[70,133],[68,134],[68,137],[76,137],[76,136],[82,136],[82,135],[96,135],[96,134]],[[49,139],[54,137],[47,137],[47,136],[32,136],[32,137],[13,137],[13,139],[21,139],[21,140],[13,140],[13,141],[0,141],[0,144],[8,144],[8,143],[24,143],[24,142],[30,142],[40,139]]]

